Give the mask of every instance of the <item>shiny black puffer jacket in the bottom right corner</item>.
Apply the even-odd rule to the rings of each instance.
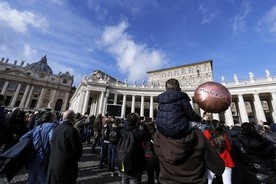
[[[233,137],[233,158],[240,183],[276,183],[275,147],[261,135]]]

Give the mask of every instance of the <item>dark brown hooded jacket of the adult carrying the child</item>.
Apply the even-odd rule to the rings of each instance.
[[[198,130],[187,132],[183,139],[171,139],[157,131],[154,149],[160,160],[161,184],[206,184],[207,168],[217,175],[224,172],[219,153]]]

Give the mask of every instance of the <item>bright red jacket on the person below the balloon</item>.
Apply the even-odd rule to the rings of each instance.
[[[211,133],[209,130],[204,130],[203,134],[205,135],[205,137],[210,140],[211,139]],[[226,149],[220,153],[220,157],[223,159],[225,167],[235,167],[234,161],[232,159],[231,156],[231,144],[230,144],[230,140],[227,136],[226,133],[223,134],[224,135],[224,140],[226,142]]]

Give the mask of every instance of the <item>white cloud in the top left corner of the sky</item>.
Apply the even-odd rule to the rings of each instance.
[[[6,23],[19,33],[26,32],[28,26],[41,29],[49,26],[45,17],[29,11],[17,11],[16,9],[12,9],[6,2],[0,2],[0,22]]]

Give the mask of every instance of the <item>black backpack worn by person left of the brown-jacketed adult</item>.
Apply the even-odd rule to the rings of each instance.
[[[126,174],[135,173],[135,150],[136,142],[130,131],[125,132],[119,140],[117,146],[117,167]]]

